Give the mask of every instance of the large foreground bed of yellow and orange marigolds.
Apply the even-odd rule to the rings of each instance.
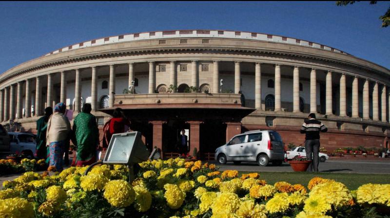
[[[384,217],[390,184],[344,184],[313,178],[302,184],[267,184],[257,173],[219,172],[214,164],[181,159],[140,164],[127,182],[127,167],[71,167],[48,176],[27,172],[3,182],[2,217],[136,218],[331,218]]]

